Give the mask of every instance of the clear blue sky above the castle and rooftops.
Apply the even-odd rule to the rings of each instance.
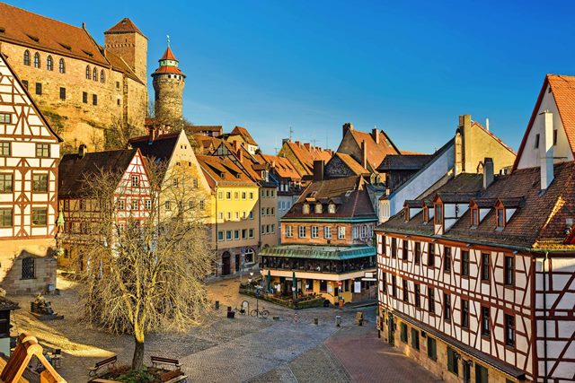
[[[398,4],[401,3],[401,4]],[[129,17],[187,74],[185,117],[337,148],[341,125],[433,152],[471,114],[517,150],[544,74],[575,74],[570,1],[18,1],[103,43]],[[151,83],[151,78],[149,79]],[[152,94],[152,93],[151,93]]]

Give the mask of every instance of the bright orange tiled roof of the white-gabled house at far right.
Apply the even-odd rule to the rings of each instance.
[[[523,152],[527,136],[531,131],[531,127],[533,126],[537,113],[539,112],[539,108],[541,107],[541,102],[544,97],[545,89],[547,89],[547,85],[551,87],[551,92],[553,93],[553,98],[555,99],[557,110],[559,111],[565,134],[567,135],[567,141],[571,146],[571,152],[573,152],[573,155],[575,156],[575,76],[547,74],[541,87],[541,91],[539,91],[539,96],[535,102],[535,108],[533,109],[531,118],[527,124],[525,135],[523,135],[523,139],[519,145],[519,154],[513,164],[513,170],[517,169],[519,159],[521,158],[521,152]]]

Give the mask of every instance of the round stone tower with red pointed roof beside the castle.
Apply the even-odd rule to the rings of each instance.
[[[181,98],[186,75],[178,68],[178,59],[168,45],[160,66],[152,74],[155,91],[155,121],[161,125],[182,124]]]

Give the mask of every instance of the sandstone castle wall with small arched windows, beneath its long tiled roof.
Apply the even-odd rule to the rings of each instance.
[[[31,54],[31,65],[23,64],[26,49]],[[64,139],[63,152],[66,152],[68,147],[75,150],[79,144],[88,145],[89,150],[102,150],[103,147],[99,148],[97,144],[103,143],[103,129],[125,120],[123,105],[126,100],[129,100],[128,120],[134,126],[144,128],[147,109],[146,85],[128,79],[128,86],[124,87],[124,75],[110,67],[6,42],[0,43],[0,52],[8,57],[7,61],[18,77],[28,82],[32,99],[36,101],[50,126]],[[40,68],[34,67],[36,52],[40,53]],[[51,71],[47,69],[49,56],[53,59]],[[60,58],[64,58],[66,65],[64,74],[58,71]],[[90,80],[86,79],[88,65]],[[97,69],[95,81],[92,78],[94,67]],[[104,83],[100,79],[102,70]],[[41,94],[36,94],[36,83],[41,84]],[[60,99],[60,88],[66,89],[66,100]],[[124,91],[128,91],[128,94],[125,95]]]

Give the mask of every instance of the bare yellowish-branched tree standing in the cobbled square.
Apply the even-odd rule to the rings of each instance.
[[[84,236],[84,318],[111,333],[134,336],[134,370],[143,366],[147,333],[199,323],[209,273],[205,196],[196,175],[184,167],[146,163],[149,183],[142,190],[105,171],[84,182],[97,212]],[[118,196],[126,194],[132,201],[140,198],[144,212],[119,212]]]

